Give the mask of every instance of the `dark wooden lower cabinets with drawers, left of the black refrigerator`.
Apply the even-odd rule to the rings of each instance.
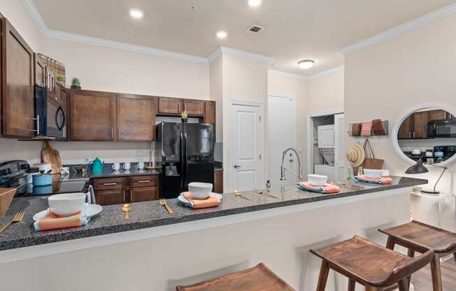
[[[95,200],[99,205],[113,205],[159,199],[159,176],[94,178]]]

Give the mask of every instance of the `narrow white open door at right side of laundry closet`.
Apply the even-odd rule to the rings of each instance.
[[[334,169],[336,180],[345,180],[347,171],[345,170],[345,125],[343,114],[334,115]]]

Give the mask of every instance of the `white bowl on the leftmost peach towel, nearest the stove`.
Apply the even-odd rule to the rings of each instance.
[[[85,193],[65,193],[48,198],[50,211],[60,216],[69,216],[82,211],[85,206]]]

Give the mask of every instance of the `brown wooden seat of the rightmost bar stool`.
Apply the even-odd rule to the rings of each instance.
[[[411,221],[405,225],[379,229],[380,232],[394,237],[394,239],[412,243],[422,247],[423,251],[434,250],[436,253],[455,253],[456,234],[419,221]]]

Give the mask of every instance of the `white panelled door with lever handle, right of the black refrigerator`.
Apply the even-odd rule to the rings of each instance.
[[[229,191],[264,186],[262,107],[231,105]]]

